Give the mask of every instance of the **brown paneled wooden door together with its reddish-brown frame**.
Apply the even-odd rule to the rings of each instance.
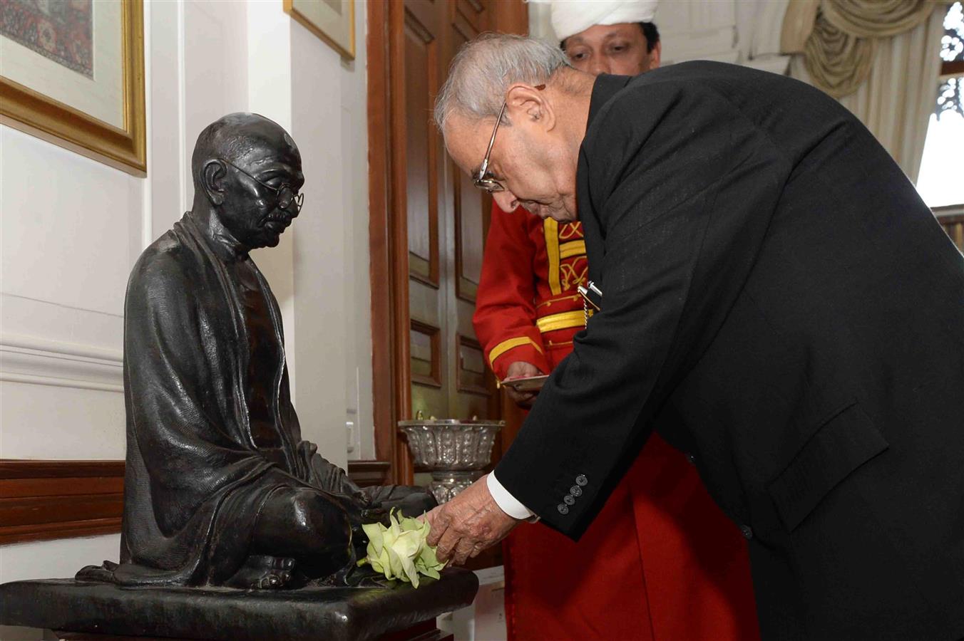
[[[492,200],[445,153],[432,107],[458,47],[524,31],[524,14],[522,0],[368,3],[376,449],[397,481],[414,473],[397,421],[500,414],[471,325]]]

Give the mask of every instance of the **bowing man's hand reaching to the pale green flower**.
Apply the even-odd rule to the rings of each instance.
[[[495,503],[485,476],[429,512],[425,520],[432,526],[428,544],[439,546],[440,561],[452,559],[455,565],[463,565],[469,557],[494,546],[522,523]]]

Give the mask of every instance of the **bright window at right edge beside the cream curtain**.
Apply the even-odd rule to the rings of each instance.
[[[964,10],[955,2],[944,17],[941,77],[927,126],[918,192],[931,208],[964,203]]]

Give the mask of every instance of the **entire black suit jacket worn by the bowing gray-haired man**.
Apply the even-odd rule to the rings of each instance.
[[[656,425],[764,638],[964,637],[964,258],[870,132],[734,65],[601,76],[577,189],[602,311],[499,481],[577,538]]]

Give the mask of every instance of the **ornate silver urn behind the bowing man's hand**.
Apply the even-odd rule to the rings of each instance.
[[[432,474],[429,491],[440,503],[469,487],[492,460],[495,434],[504,421],[417,419],[399,421],[415,465]]]

